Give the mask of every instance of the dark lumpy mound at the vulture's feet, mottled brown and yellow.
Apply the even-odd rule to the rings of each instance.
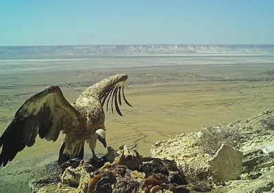
[[[111,155],[116,155],[113,159]],[[75,165],[78,162],[78,166]],[[75,167],[76,166],[76,167]],[[114,151],[108,147],[107,155],[99,162],[73,159],[62,164],[59,175],[34,179],[29,183],[32,192],[190,192],[182,170],[174,161],[142,157],[137,151],[130,153],[126,146]]]

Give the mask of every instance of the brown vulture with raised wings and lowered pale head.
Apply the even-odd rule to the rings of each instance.
[[[58,164],[76,157],[84,159],[85,142],[92,151],[91,159],[97,159],[97,140],[107,146],[103,111],[105,101],[107,111],[111,103],[112,113],[115,107],[120,116],[123,116],[119,109],[121,96],[132,107],[125,99],[127,78],[125,74],[105,78],[84,90],[73,104],[64,98],[59,86],[49,86],[34,94],[17,110],[14,119],[0,137],[0,167],[12,161],[25,146],[33,146],[36,136],[55,142],[60,131],[65,136]]]

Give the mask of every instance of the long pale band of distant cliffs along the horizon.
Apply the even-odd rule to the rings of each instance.
[[[274,53],[274,45],[90,45],[0,47],[0,58],[35,55],[162,55],[195,53]]]

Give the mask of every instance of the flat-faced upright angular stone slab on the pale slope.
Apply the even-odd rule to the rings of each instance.
[[[210,159],[214,181],[237,179],[242,169],[242,152],[233,146],[223,144],[216,155]]]

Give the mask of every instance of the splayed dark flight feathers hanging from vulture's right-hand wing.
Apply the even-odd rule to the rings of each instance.
[[[108,111],[108,104],[109,104],[110,98],[111,98],[112,113],[113,113],[113,101],[114,101],[116,112],[120,116],[123,116],[123,114],[121,113],[121,111],[119,109],[119,105],[122,105],[121,95],[123,96],[123,100],[125,101],[125,103],[127,105],[129,105],[129,107],[132,107],[132,105],[129,104],[127,99],[125,99],[124,88],[125,88],[125,81],[121,81],[119,83],[116,83],[116,84],[110,86],[107,90],[105,90],[105,92],[103,93],[103,97],[102,97],[101,102],[102,102],[102,106],[103,106],[105,101],[107,101],[107,104],[106,104],[107,111]],[[117,100],[119,101],[119,105],[118,105]]]

